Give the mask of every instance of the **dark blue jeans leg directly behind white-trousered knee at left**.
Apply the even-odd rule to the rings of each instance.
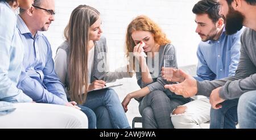
[[[92,109],[84,107],[82,105],[78,105],[81,108],[81,111],[84,112],[88,118],[88,129],[96,128],[96,114],[92,111]]]

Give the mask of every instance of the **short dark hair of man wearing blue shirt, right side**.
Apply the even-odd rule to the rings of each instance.
[[[222,18],[218,14],[219,11],[220,5],[216,0],[201,0],[192,9],[194,14],[207,14],[213,23],[216,23],[218,19]]]

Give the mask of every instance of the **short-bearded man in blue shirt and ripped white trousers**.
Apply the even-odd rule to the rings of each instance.
[[[197,49],[198,81],[214,80],[235,74],[240,58],[240,36],[242,30],[234,35],[226,35],[224,19],[218,14],[220,6],[216,0],[201,0],[193,7],[196,14],[196,32],[201,37]],[[182,82],[182,79],[179,82]],[[222,120],[210,118],[210,103],[207,97],[191,101],[175,109],[172,123],[175,128],[201,128],[200,124],[211,120],[211,128],[222,128]],[[220,118],[226,114],[219,114]]]

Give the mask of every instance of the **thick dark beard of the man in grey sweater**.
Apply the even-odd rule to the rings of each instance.
[[[225,17],[226,19],[226,34],[233,35],[234,33],[240,31],[243,27],[243,21],[245,20],[245,16],[233,9],[233,7],[229,6],[229,12]]]

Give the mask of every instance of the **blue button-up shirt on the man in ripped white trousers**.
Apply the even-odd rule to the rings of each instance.
[[[224,28],[218,40],[200,42],[197,49],[197,80],[221,79],[236,73],[243,29],[228,36]]]

